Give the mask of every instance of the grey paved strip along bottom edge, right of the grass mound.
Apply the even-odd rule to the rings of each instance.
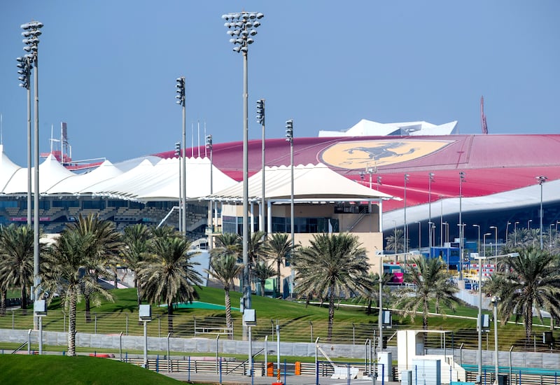
[[[175,372],[167,373],[160,372],[166,376],[178,379],[180,381],[188,381],[198,384],[254,384],[254,385],[271,385],[276,382],[274,377],[246,377],[240,375],[228,375],[222,376],[220,382],[219,374],[208,374],[208,373],[190,373],[190,378],[186,372]],[[252,381],[251,381],[252,380]],[[284,379],[281,377],[281,382]],[[316,384],[315,377],[311,376],[287,376],[286,385],[314,385]],[[348,385],[348,384],[360,384],[360,385],[381,385],[381,381],[372,381],[372,379],[351,379],[350,382],[346,379],[331,379],[330,377],[319,377],[319,384],[321,385]],[[398,385],[398,381],[384,382],[384,385]]]

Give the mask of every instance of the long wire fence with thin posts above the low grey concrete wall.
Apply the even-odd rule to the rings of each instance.
[[[0,316],[0,329],[32,329],[33,311],[22,311],[20,309],[8,310],[6,314]],[[68,330],[68,314],[64,311],[49,311],[43,317],[43,330],[53,332],[66,332]],[[424,341],[426,349],[477,349],[478,334],[475,321],[472,328],[464,328],[447,332],[445,334],[428,333]],[[328,336],[328,321],[309,321],[305,316],[295,319],[262,319],[258,318],[257,325],[253,326],[252,333],[255,341],[262,341],[266,336],[269,339],[276,335],[276,325],[283,341],[286,342],[314,342],[317,337],[321,341],[332,341],[337,344],[364,344],[368,340],[378,344],[379,329],[375,323],[347,323],[337,322],[332,328],[332,336]],[[409,327],[410,328],[410,327]],[[384,339],[387,346],[396,346],[397,330],[404,329],[402,326],[384,329]],[[431,328],[430,330],[434,330]],[[553,332],[552,344],[543,342],[543,332],[550,329],[538,328],[533,326],[531,341],[527,342],[525,330],[517,328],[500,329],[498,339],[499,350],[514,351],[534,351],[560,353],[558,344],[554,341],[560,339],[560,330]],[[118,334],[123,335],[143,335],[144,326],[139,322],[136,313],[123,311],[111,313],[99,313],[92,311],[85,314],[85,311],[78,311],[76,315],[76,331],[92,334]],[[234,318],[232,329],[226,328],[225,317],[197,317],[188,314],[178,314],[174,316],[158,315],[153,316],[148,323],[148,335],[151,337],[165,337],[171,332],[173,337],[209,337],[214,338],[221,335],[223,338],[242,339],[243,326],[241,318]],[[482,338],[482,348],[485,350],[495,349],[493,332],[484,332]]]

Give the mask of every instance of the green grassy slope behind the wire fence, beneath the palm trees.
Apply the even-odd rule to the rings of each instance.
[[[199,289],[200,302],[207,304],[224,304],[223,290],[218,288]],[[136,289],[113,290],[115,302],[102,302],[98,307],[92,307],[91,321],[86,322],[83,302],[78,304],[78,316],[76,329],[78,332],[90,332],[99,334],[141,335],[143,326],[138,322]],[[240,293],[231,292],[232,305],[239,304]],[[275,300],[268,297],[252,297],[253,308],[256,309],[257,325],[253,328],[253,338],[262,340],[265,336],[274,335],[276,323],[280,325],[283,340],[293,342],[314,342],[316,337],[325,340],[328,309],[324,304],[305,306],[300,302],[287,300]],[[377,311],[367,315],[365,308],[360,306],[340,306],[335,311],[334,335],[339,343],[363,344],[365,339],[371,339],[377,332]],[[197,325],[225,326],[225,310],[213,309],[212,306],[188,307],[174,309],[173,336],[193,337]],[[49,314],[43,318],[43,330],[65,331],[67,329],[67,314],[60,306],[59,300],[55,299],[50,304]],[[166,337],[168,332],[167,308],[153,307],[153,321],[148,323],[148,334],[156,337]],[[476,317],[478,310],[472,307],[458,307],[456,312],[447,311],[449,316],[430,316],[428,327],[437,330],[453,330],[454,346],[464,344],[465,349],[475,349],[477,346]],[[8,312],[6,316],[0,317],[0,328],[28,329],[33,327],[32,311],[23,315],[21,311]],[[241,337],[241,313],[232,310],[235,319],[235,337]],[[545,325],[539,328],[540,321],[535,319],[535,340],[540,341],[540,333],[549,330]],[[414,323],[410,318],[403,318],[393,313],[393,329],[388,330],[386,335],[391,335],[399,328],[421,328],[421,316],[416,316]],[[492,325],[493,328],[493,325]],[[525,328],[523,325],[499,325],[500,349],[508,350],[510,346],[521,347],[524,345]],[[558,331],[555,337],[558,339]],[[200,337],[215,338],[216,335],[199,335]],[[484,343],[486,346],[486,336]],[[490,336],[491,337],[491,336]],[[447,343],[451,343],[448,339]],[[395,339],[389,342],[394,345]],[[5,346],[5,345],[0,345]],[[489,338],[487,344],[493,349],[493,338]],[[531,348],[533,346],[530,346]],[[543,348],[538,344],[538,349]],[[7,347],[6,347],[7,349]]]

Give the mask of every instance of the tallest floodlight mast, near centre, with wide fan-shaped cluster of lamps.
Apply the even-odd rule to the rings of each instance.
[[[244,308],[251,309],[251,285],[249,283],[248,265],[248,70],[247,57],[248,46],[253,43],[253,38],[257,34],[256,28],[260,26],[258,20],[264,15],[260,12],[226,13],[222,19],[226,20],[224,27],[228,28],[228,35],[231,36],[230,43],[235,47],[234,52],[241,52],[243,55],[243,297]],[[243,328],[243,335],[246,337],[246,327]]]

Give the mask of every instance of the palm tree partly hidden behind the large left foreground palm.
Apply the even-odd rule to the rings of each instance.
[[[90,263],[87,267],[87,274],[92,274],[95,280],[99,279],[99,276],[109,276],[107,267],[115,267],[118,263],[118,255],[123,250],[123,242],[115,224],[103,221],[97,214],[90,214],[86,217],[80,214],[78,221],[69,224],[68,227],[83,237],[92,235],[92,243],[87,248],[87,252],[90,254],[84,255],[85,260]],[[95,294],[89,288],[83,288],[86,322],[91,321],[91,300]]]

